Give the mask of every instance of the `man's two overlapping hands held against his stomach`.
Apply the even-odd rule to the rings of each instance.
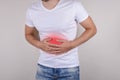
[[[59,45],[51,44],[49,43],[49,41],[50,41],[50,38],[47,38],[41,41],[40,49],[50,54],[60,55],[74,48],[71,41],[58,40],[59,42],[62,43]]]

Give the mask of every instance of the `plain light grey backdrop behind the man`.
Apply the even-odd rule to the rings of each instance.
[[[32,2],[0,0],[0,80],[34,80],[39,53],[24,37],[25,13]],[[81,2],[98,30],[79,47],[81,80],[120,80],[120,0]]]

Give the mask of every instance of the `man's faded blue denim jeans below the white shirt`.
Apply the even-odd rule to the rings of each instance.
[[[80,80],[79,66],[72,68],[50,68],[38,64],[36,80]]]

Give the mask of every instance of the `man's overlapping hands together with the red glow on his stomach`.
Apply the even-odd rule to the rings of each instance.
[[[73,48],[73,41],[68,41],[64,35],[50,34],[43,40],[43,50],[50,54],[63,54]]]

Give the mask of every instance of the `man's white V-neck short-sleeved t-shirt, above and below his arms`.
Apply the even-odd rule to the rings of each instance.
[[[51,34],[64,35],[67,40],[74,40],[77,23],[88,18],[88,14],[78,0],[60,0],[55,8],[45,8],[41,0],[32,4],[26,13],[26,25],[39,31],[40,39]],[[53,68],[79,66],[78,47],[61,55],[49,54],[40,49],[38,63]]]

